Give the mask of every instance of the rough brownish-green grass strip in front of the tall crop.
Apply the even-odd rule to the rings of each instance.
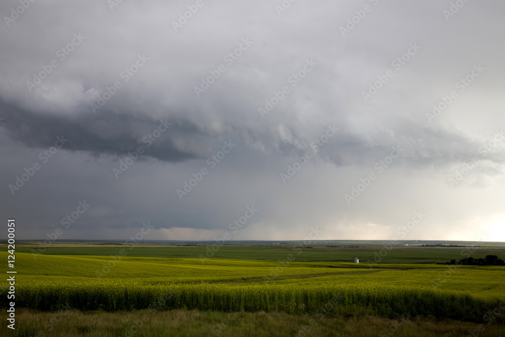
[[[5,314],[0,319],[5,321]],[[282,312],[239,312],[136,310],[128,312],[82,312],[67,310],[41,312],[17,311],[19,328],[0,325],[7,336],[411,336],[462,337],[477,331],[478,324],[461,321],[386,319],[376,316],[294,315]],[[479,337],[505,337],[505,326],[483,325]],[[481,328],[482,330],[482,328]]]

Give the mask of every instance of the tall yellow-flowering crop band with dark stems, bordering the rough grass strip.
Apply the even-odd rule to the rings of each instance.
[[[7,299],[2,298],[3,306]],[[170,284],[128,281],[31,282],[20,285],[16,306],[39,310],[76,308],[108,311],[200,309],[344,313],[360,309],[384,317],[433,315],[481,320],[498,299],[484,300],[460,292],[385,284]]]

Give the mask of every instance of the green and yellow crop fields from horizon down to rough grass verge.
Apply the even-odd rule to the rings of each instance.
[[[324,319],[450,319],[477,326],[498,308],[503,315],[493,316],[486,333],[501,331],[495,328],[505,322],[505,267],[436,264],[461,258],[464,248],[394,247],[370,264],[383,246],[223,246],[208,259],[199,257],[208,247],[61,245],[30,254],[33,247],[16,249],[16,306],[26,315],[67,309],[323,313]],[[504,253],[490,245],[472,257]],[[7,260],[7,253],[0,256]],[[348,262],[355,256],[360,264]],[[5,293],[7,283],[0,286]],[[0,298],[7,307],[6,296]]]

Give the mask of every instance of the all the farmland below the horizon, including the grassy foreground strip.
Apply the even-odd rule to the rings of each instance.
[[[484,328],[479,335],[491,336],[505,329],[505,267],[434,263],[450,260],[461,248],[397,247],[377,263],[373,257],[381,246],[370,244],[346,249],[224,246],[215,258],[201,257],[205,246],[144,246],[128,254],[119,254],[128,248],[93,246],[56,245],[44,254],[29,253],[30,245],[18,248],[16,306],[28,329],[18,333],[401,336],[438,331],[431,335],[457,336]],[[502,252],[500,246],[489,246],[474,256]],[[0,255],[7,258],[7,253]],[[362,262],[331,261],[354,255]],[[396,263],[382,263],[388,259]],[[2,289],[7,287],[4,282]],[[8,307],[6,296],[2,305]],[[118,313],[129,318],[104,326],[111,319],[121,321]],[[63,315],[76,319],[44,325]],[[90,315],[94,323],[86,319]],[[167,315],[180,316],[180,324],[161,319]],[[262,330],[258,315],[268,324],[286,321],[286,328]],[[363,320],[370,320],[366,329],[345,332]],[[253,333],[251,325],[260,330]],[[423,332],[417,331],[421,325]]]

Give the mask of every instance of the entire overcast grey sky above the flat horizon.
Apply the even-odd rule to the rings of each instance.
[[[503,2],[25,2],[0,4],[18,239],[505,241]]]

